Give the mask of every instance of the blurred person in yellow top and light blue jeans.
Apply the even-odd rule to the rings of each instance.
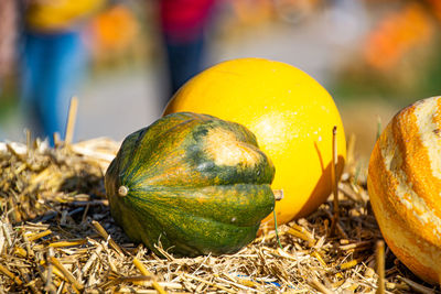
[[[54,144],[87,69],[83,28],[104,0],[29,0],[23,10],[22,99],[28,127]]]

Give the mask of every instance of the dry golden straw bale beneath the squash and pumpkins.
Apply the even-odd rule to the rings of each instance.
[[[114,222],[103,175],[119,144],[95,139],[55,149],[0,143],[0,292],[31,293],[374,293],[375,221],[366,183],[338,183],[333,202],[259,236],[236,254],[176,258],[132,243]],[[354,164],[355,161],[354,161]],[[351,167],[351,166],[349,166]],[[351,171],[351,168],[348,168]],[[386,248],[385,293],[439,293]]]

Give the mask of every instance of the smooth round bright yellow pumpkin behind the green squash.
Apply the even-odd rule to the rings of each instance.
[[[308,216],[331,193],[332,129],[337,126],[337,176],[346,157],[338,110],[330,94],[304,72],[280,62],[239,58],[217,64],[189,80],[164,115],[207,113],[251,130],[276,166],[278,224]],[[262,224],[273,225],[269,215]]]

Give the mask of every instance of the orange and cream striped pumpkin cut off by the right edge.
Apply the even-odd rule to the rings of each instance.
[[[369,160],[368,192],[395,255],[429,283],[441,277],[441,97],[398,112]]]

